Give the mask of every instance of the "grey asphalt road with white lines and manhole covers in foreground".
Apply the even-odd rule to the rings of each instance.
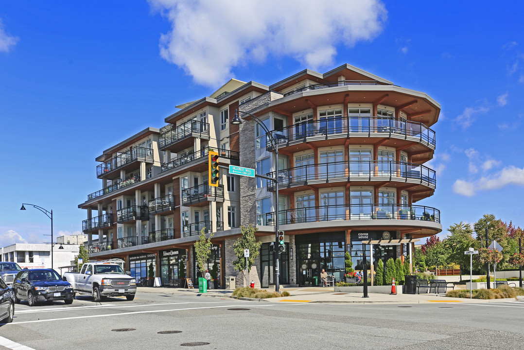
[[[232,310],[233,309],[233,310]],[[236,309],[236,310],[234,310]],[[0,349],[524,349],[524,302],[312,304],[137,293],[16,305]],[[130,331],[113,331],[133,329]],[[158,332],[178,331],[159,334]],[[14,343],[9,343],[9,341]],[[18,345],[17,345],[18,344]],[[25,347],[24,347],[25,346]]]

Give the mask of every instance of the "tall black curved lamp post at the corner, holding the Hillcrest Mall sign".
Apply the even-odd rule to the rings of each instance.
[[[233,125],[240,125],[242,124],[242,119],[238,116],[238,113],[244,113],[248,114],[253,117],[254,121],[260,125],[264,131],[266,132],[266,136],[269,136],[269,140],[271,141],[271,145],[273,146],[273,149],[275,149],[275,177],[269,178],[269,177],[263,177],[265,179],[271,180],[275,182],[275,248],[274,251],[274,259],[275,259],[275,291],[278,293],[280,290],[280,271],[279,271],[279,261],[278,261],[278,142],[275,139],[273,135],[269,132],[268,128],[264,125],[260,119],[254,114],[238,111],[238,108],[235,110],[235,116],[233,119],[231,119],[231,124]]]

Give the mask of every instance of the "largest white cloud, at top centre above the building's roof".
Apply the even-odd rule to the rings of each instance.
[[[332,64],[336,45],[352,47],[380,34],[387,11],[380,0],[149,0],[171,23],[160,55],[195,82],[222,84],[233,67],[291,56],[308,68]],[[334,16],[334,9],[336,16]]]

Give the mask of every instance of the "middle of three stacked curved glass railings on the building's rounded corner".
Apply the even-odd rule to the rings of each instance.
[[[267,176],[274,178],[275,172]],[[404,181],[419,182],[435,188],[435,171],[420,164],[397,161],[350,161],[312,164],[278,171],[278,184],[293,187],[308,183],[337,181]],[[267,181],[268,190],[275,184]]]

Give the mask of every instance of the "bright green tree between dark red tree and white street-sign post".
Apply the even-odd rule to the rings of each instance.
[[[473,228],[470,224],[461,221],[451,225],[447,231],[450,232],[450,235],[444,240],[444,245],[449,251],[448,260],[460,265],[460,280],[462,281],[462,270],[467,269],[467,266],[470,265],[470,256],[464,254],[464,251],[478,246],[473,239]]]

